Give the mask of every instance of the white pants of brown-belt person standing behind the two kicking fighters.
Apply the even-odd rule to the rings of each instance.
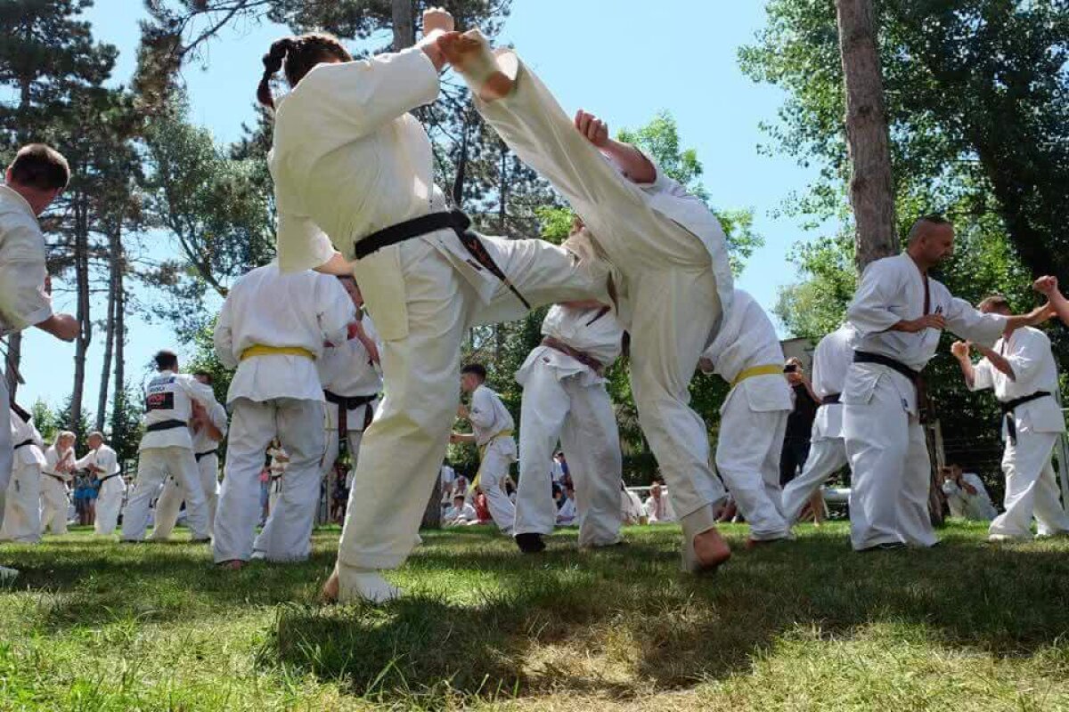
[[[520,414],[516,534],[552,534],[554,449],[561,443],[575,486],[579,545],[620,540],[623,456],[613,401],[604,383],[583,385],[583,374],[561,377],[536,359],[524,383]]]

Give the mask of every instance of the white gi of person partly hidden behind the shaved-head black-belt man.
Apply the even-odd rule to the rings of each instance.
[[[812,390],[821,398],[841,397],[847,371],[853,363],[851,343],[854,330],[845,323],[820,339],[812,353]],[[788,524],[794,524],[809,497],[827,478],[849,464],[847,443],[842,439],[842,404],[823,404],[812,422],[809,457],[802,474],[784,487],[783,512]]]

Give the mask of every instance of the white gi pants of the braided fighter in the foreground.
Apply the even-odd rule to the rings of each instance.
[[[604,272],[595,284],[573,255],[547,242],[482,239],[496,242],[499,266],[532,306],[605,294]],[[365,431],[350,490],[338,550],[342,591],[355,588],[348,576],[356,570],[400,566],[418,540],[460,400],[461,344],[501,300],[516,299],[501,287],[484,304],[424,240],[401,243],[400,260],[408,334],[381,350],[386,396]]]

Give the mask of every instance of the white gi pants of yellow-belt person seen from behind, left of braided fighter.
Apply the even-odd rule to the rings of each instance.
[[[277,506],[270,508],[258,537],[260,472],[267,446],[278,438],[290,456]],[[227,463],[213,542],[215,560],[243,560],[262,551],[270,561],[298,561],[312,548],[312,526],[320,501],[320,462],[326,436],[323,402],[297,398],[232,404]]]

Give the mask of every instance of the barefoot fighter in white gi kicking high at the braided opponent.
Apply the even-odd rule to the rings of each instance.
[[[478,31],[449,33],[439,46],[479,97],[479,112],[568,199],[590,231],[585,243],[619,271],[632,391],[681,515],[683,569],[715,569],[731,555],[713,509],[725,492],[709,464],[706,424],[688,406],[688,385],[731,306],[719,222],[644,154],[609,139],[603,122],[584,111],[570,121],[514,52],[493,57]]]

